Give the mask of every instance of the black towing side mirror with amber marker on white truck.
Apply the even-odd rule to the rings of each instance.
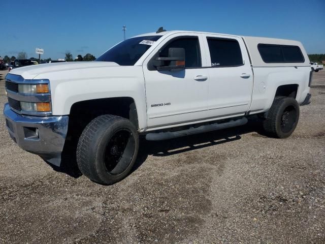
[[[168,49],[168,57],[157,57],[153,66],[157,70],[181,71],[185,69],[185,49],[171,47]]]

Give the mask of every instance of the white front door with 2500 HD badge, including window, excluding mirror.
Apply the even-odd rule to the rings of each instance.
[[[202,36],[174,34],[161,42],[143,64],[148,128],[189,123],[207,117],[209,79],[203,69]],[[150,62],[168,56],[168,49],[185,49],[185,69],[157,71]],[[149,65],[148,65],[149,63]],[[151,68],[150,68],[151,67]]]

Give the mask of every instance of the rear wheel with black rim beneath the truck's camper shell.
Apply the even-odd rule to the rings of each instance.
[[[299,120],[299,104],[294,98],[276,97],[263,121],[265,132],[275,138],[289,137]]]

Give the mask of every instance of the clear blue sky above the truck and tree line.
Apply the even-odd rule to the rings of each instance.
[[[325,53],[325,0],[230,1],[1,1],[0,55],[25,51],[36,57],[96,57],[126,37],[154,32],[159,26],[294,39],[308,53]]]

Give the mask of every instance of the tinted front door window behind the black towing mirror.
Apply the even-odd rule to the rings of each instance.
[[[168,49],[178,47],[185,49],[185,69],[199,68],[201,65],[201,52],[198,37],[177,38],[171,41],[159,52],[160,57],[168,57]]]

